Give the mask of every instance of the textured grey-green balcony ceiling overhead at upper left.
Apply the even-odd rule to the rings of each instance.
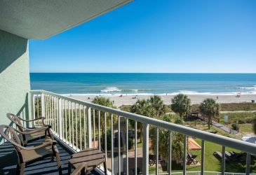
[[[45,39],[132,0],[0,0],[0,29],[28,39]]]

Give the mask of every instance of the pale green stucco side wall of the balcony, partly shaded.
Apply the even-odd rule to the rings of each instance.
[[[0,125],[11,125],[8,112],[29,118],[29,90],[28,41],[0,30]]]

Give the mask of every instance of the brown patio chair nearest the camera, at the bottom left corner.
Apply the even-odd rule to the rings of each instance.
[[[0,134],[4,139],[13,144],[15,151],[18,155],[18,163],[16,174],[24,174],[26,165],[30,163],[36,162],[42,158],[51,157],[56,158],[59,173],[61,172],[61,164],[60,164],[60,153],[56,146],[57,142],[52,139],[46,139],[45,142],[38,146],[28,146],[24,147],[21,145],[20,138],[18,137],[19,132],[15,130],[13,127],[8,125],[0,125]]]

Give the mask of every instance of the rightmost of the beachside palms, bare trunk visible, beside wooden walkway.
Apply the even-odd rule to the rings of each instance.
[[[208,116],[208,129],[212,124],[212,117],[219,115],[220,105],[214,99],[205,99],[199,106],[199,111]]]

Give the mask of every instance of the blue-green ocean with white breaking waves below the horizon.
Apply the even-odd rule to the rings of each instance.
[[[256,73],[30,73],[32,90],[81,96],[256,94]]]

